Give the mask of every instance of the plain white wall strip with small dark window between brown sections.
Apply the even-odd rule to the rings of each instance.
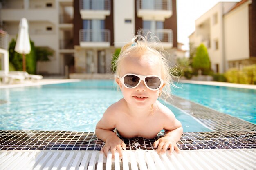
[[[118,14],[118,15],[117,15]],[[131,23],[125,23],[131,20]],[[114,0],[114,46],[122,47],[135,34],[134,0]]]

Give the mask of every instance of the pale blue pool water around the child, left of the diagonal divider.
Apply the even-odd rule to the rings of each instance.
[[[112,80],[1,89],[0,130],[93,132],[106,108],[121,98]],[[184,132],[211,131],[190,115],[165,105],[182,122]]]

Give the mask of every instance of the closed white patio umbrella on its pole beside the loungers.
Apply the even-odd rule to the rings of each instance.
[[[26,71],[26,58],[25,55],[29,54],[31,51],[30,41],[29,41],[29,25],[27,24],[26,18],[20,19],[19,33],[16,40],[15,49],[17,53],[22,54],[23,60],[23,71]]]

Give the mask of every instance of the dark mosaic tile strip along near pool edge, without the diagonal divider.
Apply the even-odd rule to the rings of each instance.
[[[126,150],[154,150],[154,139],[123,139]],[[256,132],[184,132],[178,147],[195,149],[255,149]],[[101,150],[103,141],[92,132],[0,131],[0,150]]]

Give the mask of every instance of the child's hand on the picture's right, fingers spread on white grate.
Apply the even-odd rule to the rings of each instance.
[[[180,149],[177,147],[176,142],[172,137],[169,136],[159,138],[154,142],[153,146],[154,148],[157,148],[158,146],[157,152],[159,154],[164,154],[167,148],[170,148],[170,153],[173,153],[173,150],[176,150],[176,152],[180,153]]]

